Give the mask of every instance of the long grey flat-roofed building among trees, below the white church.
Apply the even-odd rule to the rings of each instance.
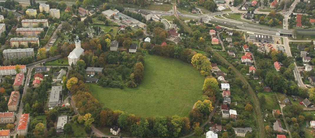
[[[60,95],[62,94],[62,86],[52,86],[49,96],[48,107],[56,107],[61,103]]]

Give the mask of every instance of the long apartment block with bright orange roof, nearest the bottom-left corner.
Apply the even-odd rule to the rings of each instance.
[[[26,136],[27,129],[28,129],[28,124],[30,123],[30,118],[29,117],[30,117],[29,113],[21,114],[21,117],[19,119],[18,128],[17,128],[17,134],[18,135]]]

